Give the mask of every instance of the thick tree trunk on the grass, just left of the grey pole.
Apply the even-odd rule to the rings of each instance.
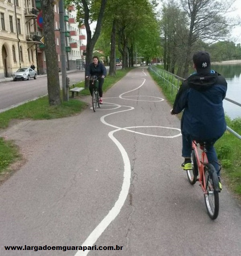
[[[53,0],[41,0],[43,11],[43,35],[45,44],[45,56],[47,66],[47,87],[50,105],[60,105],[59,66],[55,48],[54,32],[54,2]]]

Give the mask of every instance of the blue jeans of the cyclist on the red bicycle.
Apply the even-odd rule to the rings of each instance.
[[[217,139],[212,139],[210,142],[206,142],[206,154],[208,162],[210,162],[217,173],[219,174],[220,166],[218,164],[218,157],[214,148],[214,144]],[[190,135],[182,134],[182,157],[190,158],[192,153],[192,137]],[[220,174],[219,174],[220,175]]]

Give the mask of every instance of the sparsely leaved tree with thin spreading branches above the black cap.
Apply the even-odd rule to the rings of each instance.
[[[180,2],[188,22],[183,72],[183,77],[187,77],[195,43],[198,40],[215,42],[224,39],[229,34],[229,28],[235,25],[233,19],[225,17],[235,0],[180,0]]]

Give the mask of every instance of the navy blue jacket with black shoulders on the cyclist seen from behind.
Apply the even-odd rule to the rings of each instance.
[[[182,134],[200,141],[219,139],[226,129],[223,99],[227,82],[215,71],[195,73],[182,83],[174,102],[173,114],[183,109]]]

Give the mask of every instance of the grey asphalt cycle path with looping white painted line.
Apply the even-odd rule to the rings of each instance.
[[[103,97],[95,113],[89,104],[0,133],[26,159],[0,186],[0,255],[240,255],[241,207],[223,183],[219,216],[208,217],[201,188],[180,169],[180,121],[147,69]],[[4,249],[25,245],[123,248]]]

